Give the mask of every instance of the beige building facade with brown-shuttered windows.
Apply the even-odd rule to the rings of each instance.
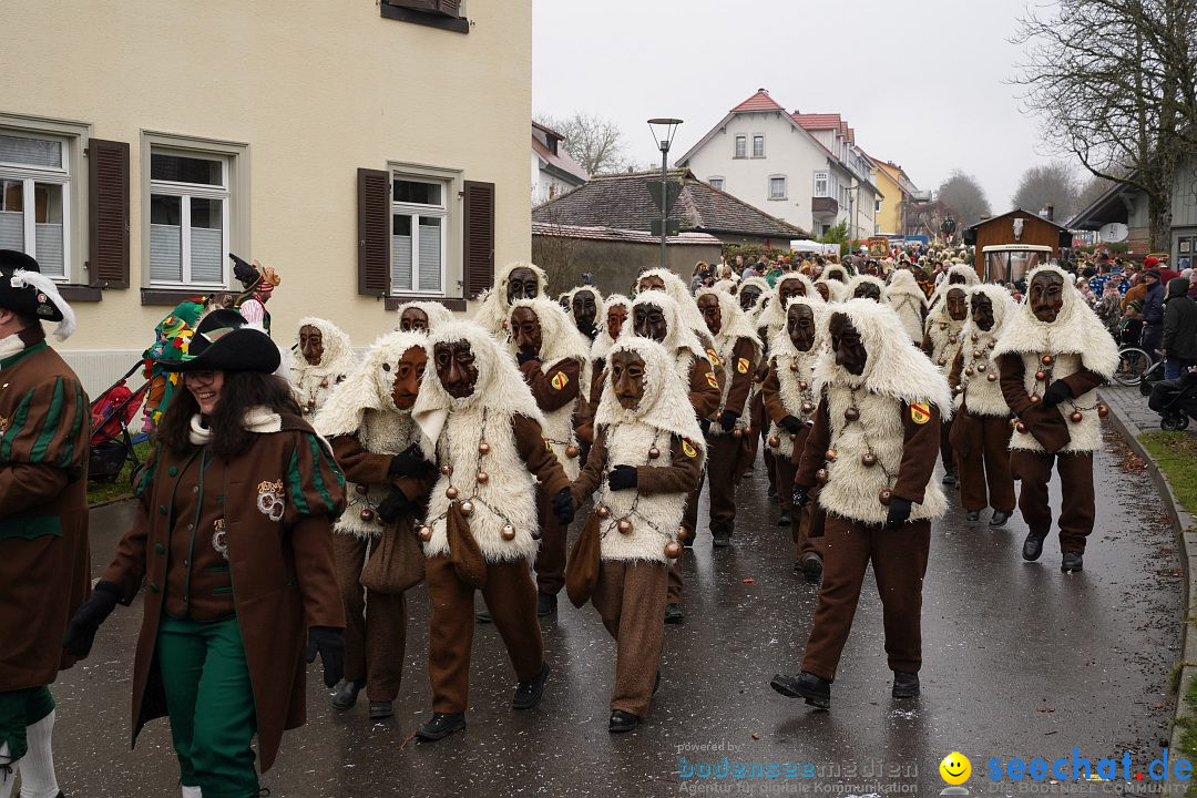
[[[0,248],[72,299],[96,392],[180,300],[274,267],[273,335],[354,346],[527,260],[531,0],[12,0]]]

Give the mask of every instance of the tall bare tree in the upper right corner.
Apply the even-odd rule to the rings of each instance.
[[[1020,22],[1014,83],[1044,141],[1142,189],[1165,248],[1177,165],[1197,145],[1197,0],[1059,0]]]

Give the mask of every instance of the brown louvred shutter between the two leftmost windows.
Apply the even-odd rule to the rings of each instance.
[[[98,288],[129,287],[129,145],[87,141],[89,269]]]

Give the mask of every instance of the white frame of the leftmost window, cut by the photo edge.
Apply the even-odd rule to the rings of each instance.
[[[19,114],[0,114],[0,133],[26,139],[45,139],[62,145],[61,169],[2,164],[0,176],[24,181],[25,196],[32,197],[29,181],[62,185],[62,276],[48,275],[57,284],[86,282],[83,257],[87,250],[83,234],[86,229],[86,208],[80,205],[87,195],[87,175],[83,165],[84,142],[91,136],[91,126],[84,122],[51,120]],[[26,202],[25,251],[37,257],[36,205]],[[30,251],[32,250],[32,251]]]

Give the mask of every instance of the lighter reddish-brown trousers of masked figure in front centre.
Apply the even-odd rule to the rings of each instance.
[[[591,599],[610,636],[615,639],[615,686],[610,708],[643,718],[652,700],[661,668],[666,611],[663,562],[603,560]]]

